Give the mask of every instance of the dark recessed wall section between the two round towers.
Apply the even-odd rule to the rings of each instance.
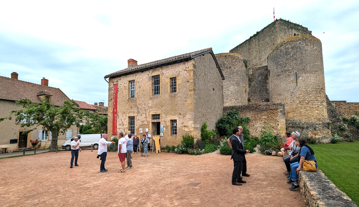
[[[249,69],[249,92],[250,104],[269,102],[268,91],[268,67]]]

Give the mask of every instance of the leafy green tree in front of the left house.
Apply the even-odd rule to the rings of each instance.
[[[30,101],[28,98],[16,101],[16,104],[21,105],[23,109],[14,110],[10,112],[9,117],[1,118],[11,120],[15,117],[15,124],[21,127],[31,127],[27,133],[33,131],[38,126],[43,126],[52,133],[52,140],[50,150],[56,150],[57,138],[61,134],[65,134],[66,130],[71,125],[80,126],[80,122],[84,120],[89,121],[90,114],[88,111],[81,110],[79,105],[74,101],[66,100],[61,106],[50,104],[49,100],[45,99],[41,104]],[[22,124],[22,120],[27,119],[27,123]]]

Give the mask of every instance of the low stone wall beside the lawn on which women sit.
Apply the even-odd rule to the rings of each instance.
[[[299,172],[300,194],[308,207],[357,207],[320,170]]]

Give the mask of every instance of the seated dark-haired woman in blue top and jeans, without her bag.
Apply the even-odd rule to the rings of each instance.
[[[312,148],[310,146],[308,146],[307,140],[305,140],[303,138],[299,138],[298,142],[299,142],[299,146],[300,146],[300,150],[299,150],[300,160],[299,160],[299,162],[290,164],[290,168],[291,168],[290,173],[292,173],[292,180],[289,180],[287,183],[294,182],[292,187],[289,188],[290,190],[299,188],[297,172],[299,172],[299,170],[302,169],[303,160],[314,161],[315,167],[318,168],[317,159],[315,159],[315,156],[314,156],[314,151],[312,150]]]

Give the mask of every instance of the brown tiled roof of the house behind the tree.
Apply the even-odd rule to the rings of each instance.
[[[0,99],[19,101],[28,98],[32,102],[42,103],[37,94],[45,91],[45,94],[52,95],[51,104],[53,105],[61,106],[65,100],[70,100],[59,88],[0,76]]]

